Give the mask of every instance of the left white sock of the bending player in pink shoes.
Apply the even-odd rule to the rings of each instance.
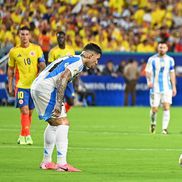
[[[43,162],[52,161],[52,152],[55,146],[56,140],[56,126],[47,125],[44,131],[44,157]]]

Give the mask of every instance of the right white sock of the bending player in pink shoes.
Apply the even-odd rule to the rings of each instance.
[[[66,164],[68,149],[68,125],[59,125],[56,130],[57,163]]]

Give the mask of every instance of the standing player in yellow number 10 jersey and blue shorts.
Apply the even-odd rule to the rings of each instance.
[[[23,26],[19,30],[20,45],[9,52],[8,61],[8,90],[10,95],[16,96],[16,107],[20,108],[21,133],[18,144],[33,144],[30,135],[30,125],[34,103],[30,95],[30,86],[38,72],[45,68],[45,60],[40,46],[30,42],[29,27]],[[15,76],[15,93],[13,79]]]

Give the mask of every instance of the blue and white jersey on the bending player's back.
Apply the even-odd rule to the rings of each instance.
[[[33,81],[31,89],[40,92],[52,92],[56,89],[56,81],[60,75],[69,69],[72,79],[83,70],[81,56],[66,56],[59,58],[48,65],[39,76]],[[71,81],[71,80],[70,80]]]

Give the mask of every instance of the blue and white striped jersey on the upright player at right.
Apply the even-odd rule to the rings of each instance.
[[[153,88],[150,93],[172,92],[170,72],[174,72],[174,59],[168,55],[160,57],[158,54],[148,59],[145,71],[151,73]]]

